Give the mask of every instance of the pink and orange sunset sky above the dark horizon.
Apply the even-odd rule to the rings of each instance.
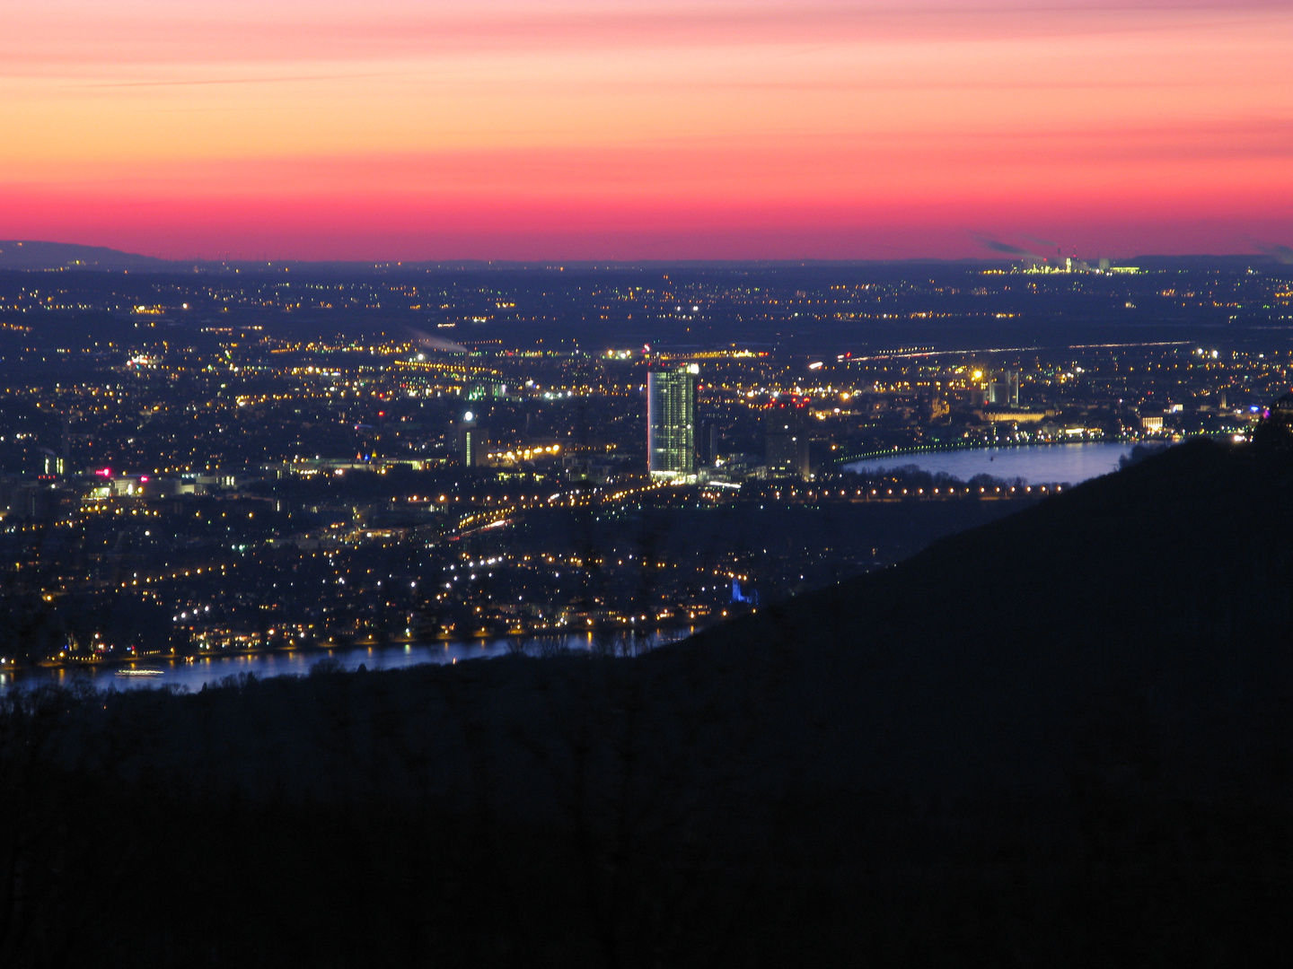
[[[0,10],[0,238],[369,260],[1293,244],[1289,0]]]

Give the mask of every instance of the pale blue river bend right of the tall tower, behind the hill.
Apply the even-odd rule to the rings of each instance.
[[[1118,459],[1130,453],[1133,447],[1134,444],[1115,443],[975,447],[869,457],[846,468],[874,472],[878,468],[903,468],[914,464],[931,474],[941,472],[961,481],[970,481],[976,474],[990,474],[1007,481],[1023,478],[1028,484],[1078,484],[1116,470]]]

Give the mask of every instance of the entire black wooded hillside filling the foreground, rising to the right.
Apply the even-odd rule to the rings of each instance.
[[[635,660],[45,695],[0,964],[1283,964],[1290,505],[1197,443]]]

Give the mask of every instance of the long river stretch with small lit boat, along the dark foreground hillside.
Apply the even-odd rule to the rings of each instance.
[[[641,637],[617,636],[603,641],[601,646],[615,652],[644,651],[668,642],[684,640],[694,629],[666,629]],[[138,687],[175,686],[198,691],[208,683],[219,683],[229,676],[253,673],[256,677],[304,676],[310,668],[332,659],[343,669],[401,669],[422,663],[458,663],[468,659],[489,659],[524,651],[531,656],[548,651],[592,650],[597,646],[592,633],[568,636],[537,636],[528,638],[503,637],[472,642],[402,643],[394,646],[352,646],[335,650],[294,650],[256,655],[203,656],[191,663],[147,660],[122,667],[23,669],[0,673],[0,690],[18,686],[30,689],[44,683],[70,685],[91,682],[101,690],[129,690]],[[133,673],[133,674],[132,674]],[[151,674],[150,674],[151,673]]]

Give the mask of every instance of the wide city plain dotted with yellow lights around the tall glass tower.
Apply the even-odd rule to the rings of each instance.
[[[9,276],[0,583],[39,662],[711,621],[935,536],[884,508],[971,523],[1054,494],[852,460],[1245,437],[1289,388],[1271,324],[1289,291],[1155,271]],[[1011,328],[1073,306],[1206,326]],[[948,320],[998,329],[966,346]]]

